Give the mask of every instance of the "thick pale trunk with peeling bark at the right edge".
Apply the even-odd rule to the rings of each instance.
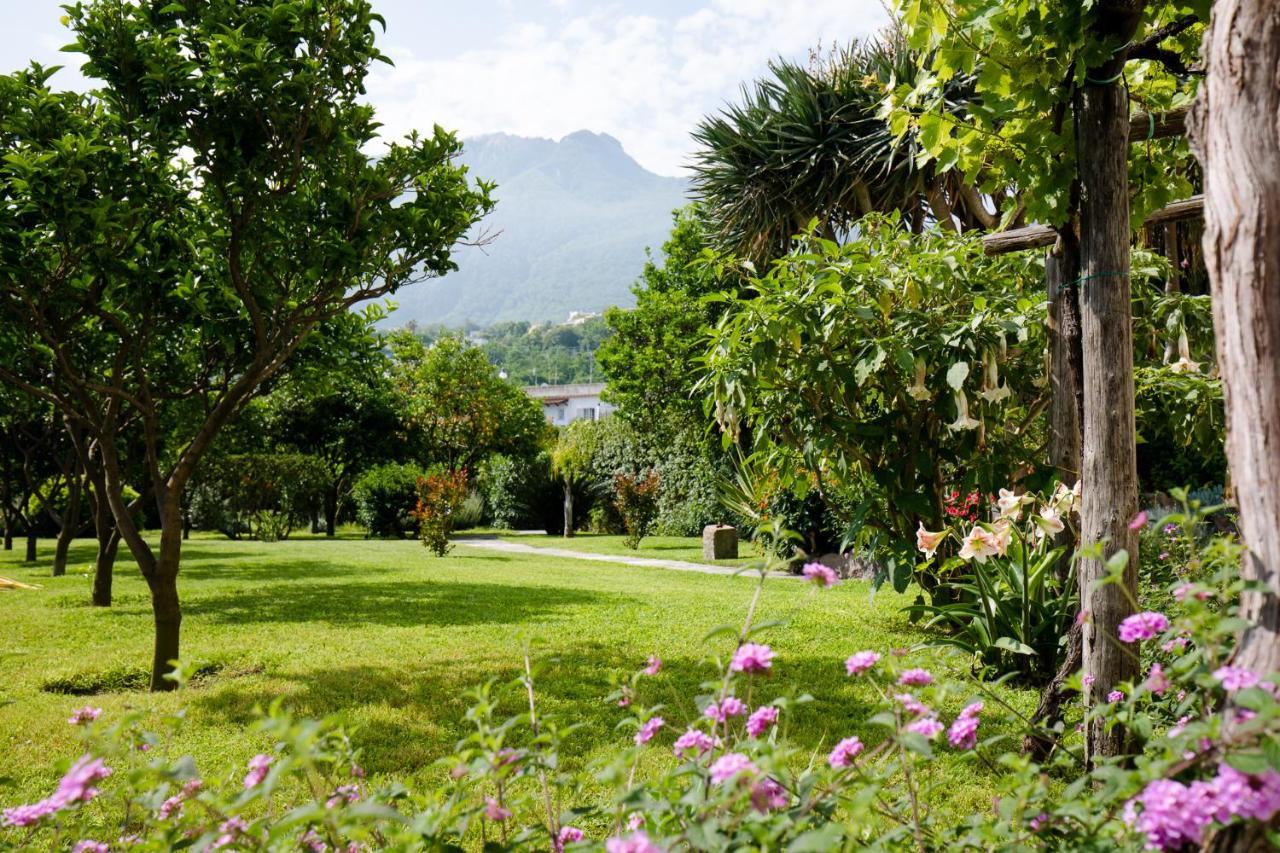
[[[1280,6],[1219,0],[1190,124],[1204,168],[1204,265],[1226,403],[1226,459],[1252,622],[1235,663],[1280,669]]]

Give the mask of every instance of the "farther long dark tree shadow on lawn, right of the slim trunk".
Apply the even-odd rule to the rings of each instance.
[[[296,583],[195,597],[183,610],[196,619],[236,624],[506,625],[545,621],[567,607],[618,606],[631,601],[627,596],[559,587],[436,580],[428,576],[326,584],[314,583],[314,575],[306,569],[298,573],[302,576],[289,578]]]

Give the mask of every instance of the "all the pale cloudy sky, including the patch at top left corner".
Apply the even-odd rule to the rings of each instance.
[[[76,65],[60,0],[0,0],[0,68]],[[392,133],[439,123],[463,136],[622,141],[646,168],[680,174],[690,129],[773,56],[803,59],[874,32],[881,0],[374,0],[387,18],[370,97]],[[59,79],[76,86],[78,74]]]

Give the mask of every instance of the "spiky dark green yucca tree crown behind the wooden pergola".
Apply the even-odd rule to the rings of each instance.
[[[916,146],[879,115],[891,81],[920,63],[901,33],[856,42],[808,64],[776,60],[740,104],[694,131],[694,192],[717,242],[753,261],[785,254],[817,219],[831,238],[873,211],[899,210],[919,231],[989,228],[996,216],[961,175],[916,164]],[[963,109],[965,82],[957,82]]]

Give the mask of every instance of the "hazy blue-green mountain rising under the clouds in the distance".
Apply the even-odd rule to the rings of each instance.
[[[563,321],[570,311],[631,305],[645,250],[662,246],[687,182],[653,174],[605,133],[561,141],[492,133],[462,161],[498,184],[481,223],[488,246],[457,250],[458,270],[396,295],[389,325]]]

